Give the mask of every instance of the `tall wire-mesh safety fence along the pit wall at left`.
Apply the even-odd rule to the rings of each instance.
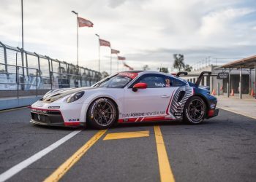
[[[23,54],[23,58],[22,58]],[[0,90],[51,90],[91,86],[101,74],[0,41]]]

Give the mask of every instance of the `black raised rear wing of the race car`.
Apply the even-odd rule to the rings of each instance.
[[[199,86],[200,82],[203,79],[203,76],[217,76],[217,79],[228,79],[229,74],[225,73],[225,72],[222,72],[222,73],[219,73],[219,74],[211,74],[211,71],[203,71],[200,74],[188,74],[185,71],[181,71],[181,72],[178,72],[176,74],[176,77],[179,77],[179,76],[198,76],[197,81],[195,82],[195,84],[197,86]]]

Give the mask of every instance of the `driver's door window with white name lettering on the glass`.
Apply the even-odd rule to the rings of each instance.
[[[165,76],[158,74],[147,74],[138,79],[135,83],[146,83],[148,88],[162,88],[165,87]]]

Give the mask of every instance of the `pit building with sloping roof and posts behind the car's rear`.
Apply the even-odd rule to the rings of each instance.
[[[242,98],[243,94],[254,94],[256,99],[256,55],[249,58],[235,60],[222,66],[206,66],[196,71],[192,71],[189,74],[200,74],[202,71],[211,71],[212,74],[226,72],[230,75],[229,79],[223,80],[217,79],[216,76],[203,77],[200,84],[210,87],[211,92],[214,90],[218,94],[227,95],[227,97],[230,96],[230,92],[232,92],[232,94],[237,93],[239,94],[239,98]],[[186,79],[190,82],[195,82],[197,77],[189,76]]]

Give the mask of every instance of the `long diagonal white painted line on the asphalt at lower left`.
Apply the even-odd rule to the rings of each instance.
[[[50,151],[53,151],[58,146],[60,146],[62,143],[68,141],[70,138],[77,135],[81,130],[75,130],[73,132],[70,132],[68,135],[64,136],[64,138],[61,138],[59,141],[56,141],[56,143],[51,144],[50,146],[46,147],[45,149],[42,149],[42,151],[37,152],[37,154],[34,154],[33,156],[29,157],[26,160],[23,160],[23,162],[20,162],[18,165],[13,166],[9,170],[5,171],[4,173],[1,173],[0,175],[0,182],[6,181],[7,179],[11,178],[13,175],[20,172],[20,170],[23,170],[24,168],[28,167],[32,163],[36,162],[38,159],[41,159],[46,154],[48,154]]]

